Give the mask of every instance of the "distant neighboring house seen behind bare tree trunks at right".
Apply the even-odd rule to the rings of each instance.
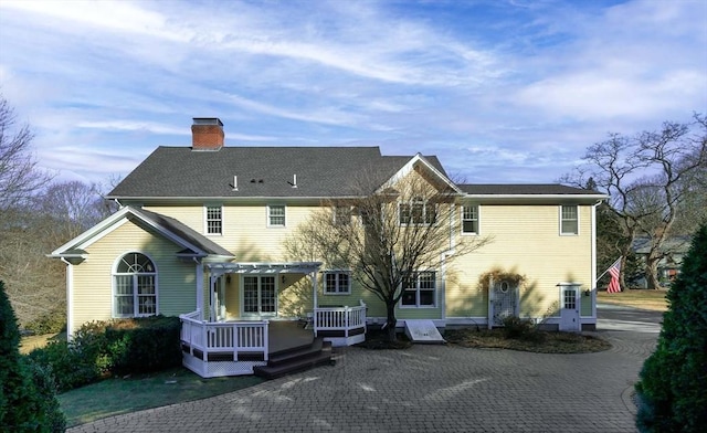
[[[663,242],[659,250],[661,260],[658,261],[657,277],[662,286],[669,286],[677,277],[683,265],[683,258],[689,251],[690,236],[672,236]],[[632,245],[633,252],[645,264],[648,254],[651,254],[651,240],[648,237],[637,237]],[[632,282],[635,287],[647,288],[648,283],[645,276]]]

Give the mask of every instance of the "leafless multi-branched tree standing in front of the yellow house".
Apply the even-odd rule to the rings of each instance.
[[[433,188],[416,173],[360,198],[325,203],[300,224],[285,245],[292,256],[323,260],[351,270],[365,289],[386,305],[388,337],[395,340],[395,306],[421,273],[434,275],[444,261],[490,240],[455,242],[452,233],[457,193]]]

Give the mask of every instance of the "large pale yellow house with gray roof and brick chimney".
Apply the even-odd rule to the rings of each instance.
[[[51,254],[67,265],[70,336],[91,320],[180,315],[184,363],[202,376],[267,361],[274,320],[308,321],[335,345],[361,341],[367,325],[386,321],[384,306],[326,257],[286,257],[283,241],[326,201],[360,197],[354,180],[365,178],[372,193],[412,170],[457,191],[451,242],[493,242],[421,272],[398,307],[400,326],[490,327],[516,315],[595,327],[601,193],[454,184],[436,157],[381,156],[378,147],[225,147],[217,118],[196,118],[192,134],[191,147],[155,150],[109,193],[120,210]],[[493,270],[523,282],[487,289],[479,276]],[[212,357],[214,348],[231,351]],[[204,367],[211,361],[221,363]]]

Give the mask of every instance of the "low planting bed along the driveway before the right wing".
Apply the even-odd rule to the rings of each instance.
[[[444,332],[444,339],[462,347],[509,349],[537,353],[590,353],[611,348],[611,344],[601,338],[574,332],[532,330],[521,338],[507,338],[503,328],[450,329]]]

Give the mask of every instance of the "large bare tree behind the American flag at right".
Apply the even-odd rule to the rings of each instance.
[[[695,114],[687,124],[666,122],[658,131],[634,137],[612,134],[590,146],[583,160],[562,180],[581,186],[591,178],[611,197],[610,209],[630,241],[622,245],[624,262],[636,237],[650,240],[645,276],[650,288],[658,288],[663,245],[690,198],[687,180],[707,165],[706,117]]]

